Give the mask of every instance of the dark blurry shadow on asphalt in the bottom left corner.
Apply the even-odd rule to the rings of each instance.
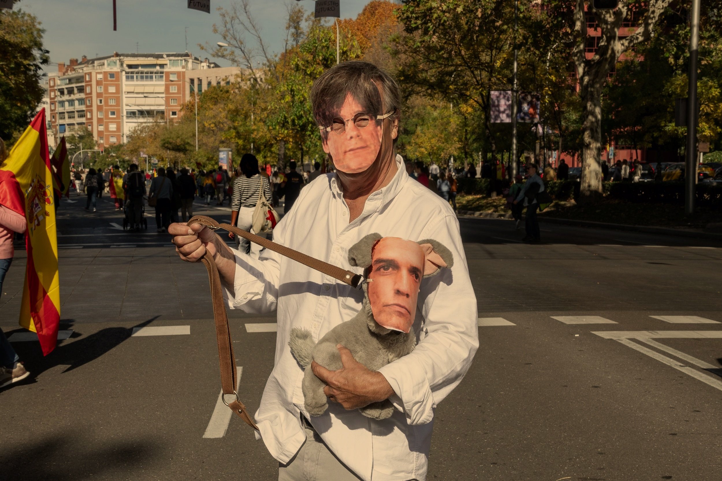
[[[75,481],[95,479],[108,472],[126,472],[147,465],[160,454],[161,446],[147,441],[111,441],[93,444],[79,441],[82,433],[66,432],[38,441],[6,448],[0,453],[1,471],[13,480]]]

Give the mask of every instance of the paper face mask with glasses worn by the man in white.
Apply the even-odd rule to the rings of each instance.
[[[367,114],[365,117],[359,116],[364,113]],[[385,138],[388,132],[385,136],[383,121],[377,122],[376,115],[376,112],[364,112],[360,103],[350,94],[347,95],[337,115],[339,120],[344,120],[344,132],[331,130],[323,140],[323,151],[329,154],[337,170],[345,174],[365,172],[387,153],[392,142]],[[364,124],[364,118],[368,120],[367,125],[357,126]]]

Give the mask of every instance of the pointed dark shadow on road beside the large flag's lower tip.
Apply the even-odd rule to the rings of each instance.
[[[109,350],[120,345],[124,340],[131,337],[135,327],[145,327],[160,316],[154,316],[143,321],[133,327],[106,327],[82,339],[73,342],[58,341],[58,347],[43,356],[40,350],[40,343],[13,343],[13,348],[25,362],[25,367],[30,371],[31,379],[27,379],[27,383],[35,382],[35,378],[44,371],[58,365],[69,365],[63,372],[72,371],[80,366],[95,361]],[[79,325],[75,325],[78,327]],[[65,326],[68,328],[69,326]],[[64,327],[61,327],[61,330]],[[9,331],[6,335],[9,337],[13,332],[25,332],[25,330]],[[71,339],[82,336],[82,332],[74,332]],[[25,382],[24,382],[25,384]]]

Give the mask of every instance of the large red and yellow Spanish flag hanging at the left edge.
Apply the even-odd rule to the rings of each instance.
[[[45,131],[45,109],[15,143],[3,166],[19,183],[25,202],[27,267],[20,325],[38,333],[47,356],[55,349],[60,322],[58,239],[53,204],[53,169]]]

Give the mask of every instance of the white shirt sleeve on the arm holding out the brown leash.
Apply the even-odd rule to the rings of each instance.
[[[284,244],[284,225],[283,219],[276,225],[274,242]],[[223,298],[229,309],[241,309],[248,314],[274,312],[278,300],[282,256],[266,249],[260,259],[254,259],[238,250],[232,251],[235,255],[234,292],[223,287]]]

